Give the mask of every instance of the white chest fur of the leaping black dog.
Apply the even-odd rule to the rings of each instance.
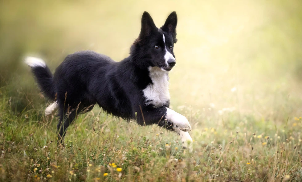
[[[143,90],[146,104],[160,107],[170,100],[168,72],[162,71],[158,67],[150,67],[149,72],[152,83]]]

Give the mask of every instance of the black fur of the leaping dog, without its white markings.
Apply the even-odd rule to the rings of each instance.
[[[140,125],[171,125],[165,121],[169,101],[157,108],[147,105],[142,90],[153,84],[149,67],[170,69],[165,65],[162,35],[167,47],[176,43],[177,15],[172,12],[161,29],[147,12],[141,23],[141,33],[131,46],[130,56],[120,62],[93,51],[80,51],[68,55],[53,78],[47,67],[32,69],[42,91],[58,101],[59,139],[63,139],[77,114],[91,110],[95,104],[116,117],[136,119]],[[155,45],[159,48],[154,48]],[[169,51],[174,56],[173,47]]]

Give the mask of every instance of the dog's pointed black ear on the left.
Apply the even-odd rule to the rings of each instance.
[[[141,34],[140,36],[145,37],[149,36],[152,31],[156,31],[157,27],[155,26],[153,19],[147,11],[144,11],[143,16],[141,17]]]

